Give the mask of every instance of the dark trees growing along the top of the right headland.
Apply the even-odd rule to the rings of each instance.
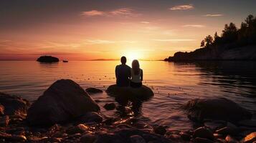
[[[215,32],[214,37],[206,36],[202,42],[201,47],[221,46],[224,44],[238,44],[239,46],[246,46],[248,44],[256,44],[256,17],[250,14],[242,22],[240,29],[237,29],[234,23],[225,24],[221,36]]]

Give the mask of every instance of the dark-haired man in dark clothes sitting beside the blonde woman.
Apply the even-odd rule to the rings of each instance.
[[[121,63],[115,66],[116,85],[118,87],[128,87],[130,86],[131,67],[126,65],[125,56],[121,57]]]

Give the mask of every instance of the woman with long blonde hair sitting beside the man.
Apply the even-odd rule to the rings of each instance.
[[[142,69],[140,69],[140,64],[138,63],[138,60],[134,59],[131,66],[131,87],[141,87],[143,81],[143,71]]]

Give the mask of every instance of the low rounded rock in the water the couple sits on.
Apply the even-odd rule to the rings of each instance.
[[[110,85],[106,92],[112,97],[135,98],[140,100],[146,100],[153,97],[153,91],[145,85],[139,88],[132,88],[118,87],[114,84]]]

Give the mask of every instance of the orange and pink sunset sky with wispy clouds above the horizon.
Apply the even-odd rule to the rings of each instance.
[[[0,60],[164,59],[194,51],[255,0],[0,0]]]

